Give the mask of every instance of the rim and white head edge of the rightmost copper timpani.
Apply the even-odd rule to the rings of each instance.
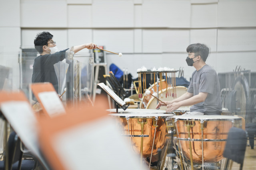
[[[238,116],[227,116],[227,115],[177,115],[173,116],[175,120],[188,120],[188,121],[201,121],[201,120],[207,120],[207,121],[234,121],[236,120],[242,120],[241,117]]]

